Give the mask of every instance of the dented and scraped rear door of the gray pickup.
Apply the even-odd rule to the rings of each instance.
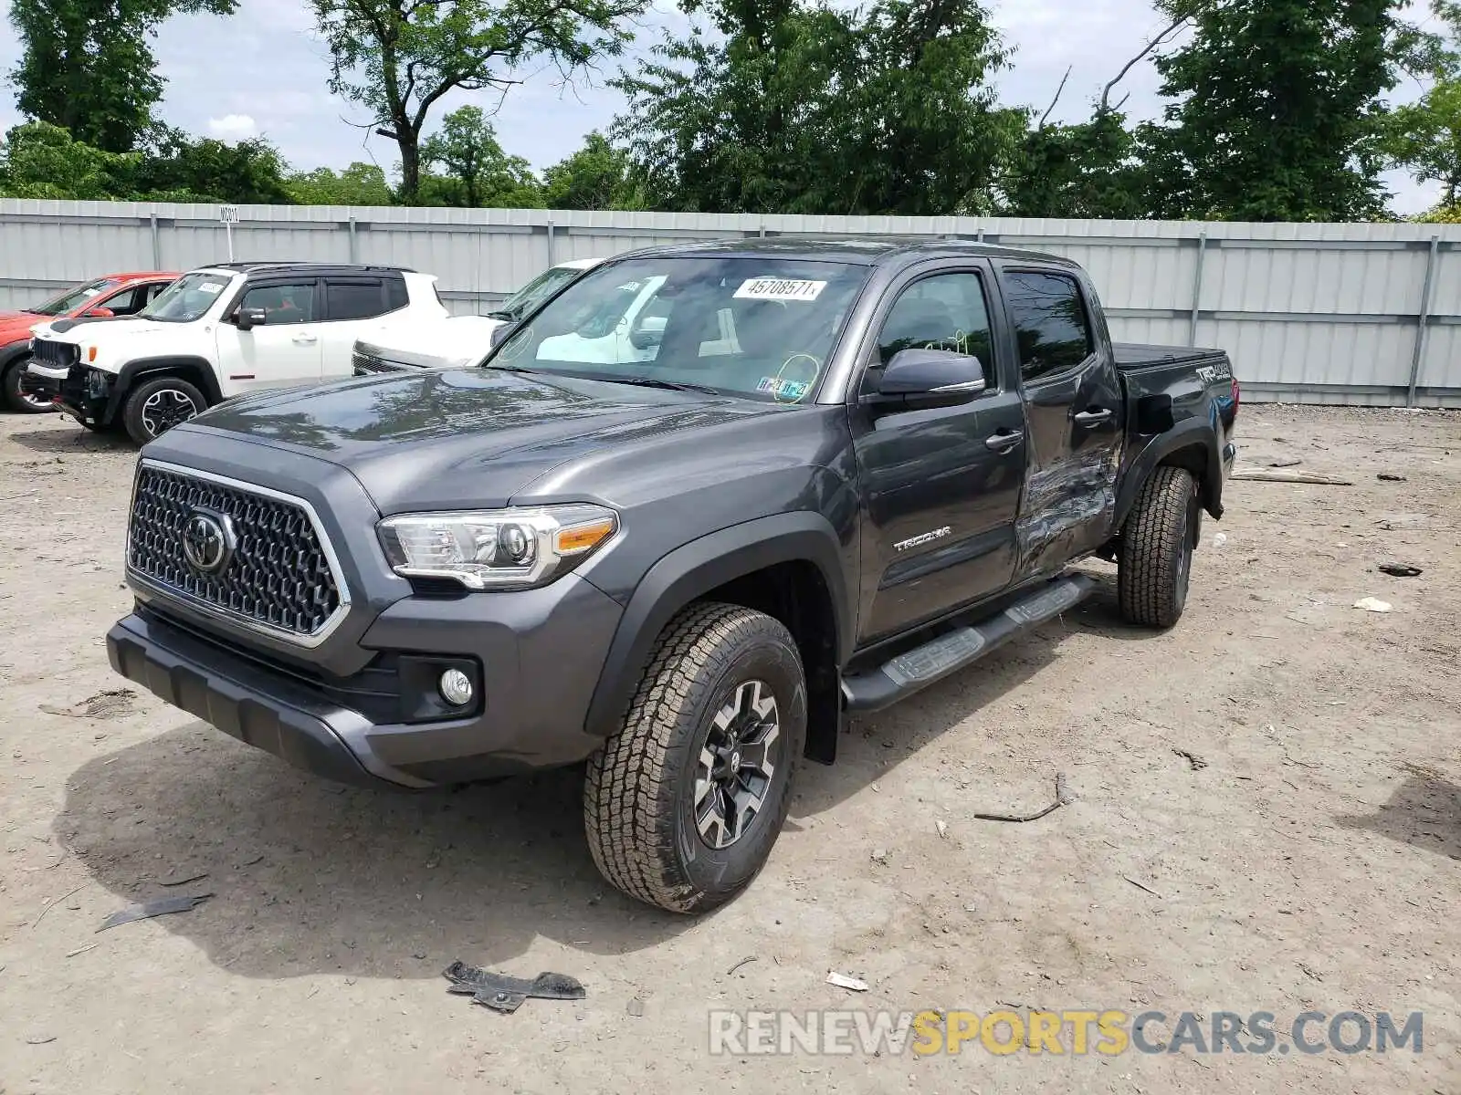
[[[1053,572],[1110,534],[1125,402],[1096,295],[1072,267],[999,264],[1030,434],[1020,577]]]

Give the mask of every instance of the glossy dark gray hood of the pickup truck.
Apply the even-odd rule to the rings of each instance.
[[[507,505],[568,461],[774,410],[700,393],[444,369],[232,399],[155,445],[206,448],[193,435],[228,434],[307,454],[345,467],[393,514]]]

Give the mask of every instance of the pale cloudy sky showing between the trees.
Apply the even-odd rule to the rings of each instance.
[[[7,16],[9,0],[0,0],[0,72],[6,73],[19,54]],[[1002,99],[1043,110],[1071,67],[1052,115],[1071,121],[1088,115],[1102,85],[1161,25],[1147,0],[996,0],[993,18],[1015,50],[1014,67],[998,80]],[[655,0],[633,48],[644,50],[666,29],[684,26],[671,0]],[[359,108],[329,93],[329,51],[300,0],[240,0],[232,18],[178,16],[162,26],[155,53],[168,82],[161,114],[174,126],[224,139],[263,134],[297,168],[340,168],[356,159],[374,159],[387,171],[394,166],[394,146],[367,137],[351,124],[367,120]],[[618,92],[605,85],[611,72],[579,79],[574,86],[564,86],[552,69],[520,74],[526,82],[508,92],[494,121],[503,146],[539,169],[577,149],[589,130],[608,126],[622,107]],[[1122,88],[1131,92],[1128,114],[1159,114],[1150,64],[1134,69]],[[470,101],[491,108],[498,96],[447,96],[435,117]],[[13,95],[3,88],[0,128],[16,121]],[[1403,213],[1435,200],[1403,175],[1388,182]]]

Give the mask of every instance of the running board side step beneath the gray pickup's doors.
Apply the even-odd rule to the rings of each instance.
[[[972,666],[1015,635],[1068,612],[1094,588],[1096,583],[1084,574],[1055,578],[979,623],[945,632],[922,647],[899,654],[881,669],[846,676],[842,679],[843,707],[847,711],[881,711],[891,707],[935,680]]]

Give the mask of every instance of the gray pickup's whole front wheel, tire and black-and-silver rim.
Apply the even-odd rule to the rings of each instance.
[[[589,761],[593,861],[633,898],[706,912],[757,876],[806,737],[796,642],[777,620],[701,603],[671,620],[618,733]]]

